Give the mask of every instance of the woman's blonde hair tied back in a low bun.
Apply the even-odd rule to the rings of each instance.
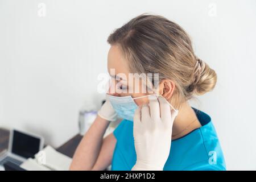
[[[216,85],[216,73],[194,54],[189,35],[163,16],[139,15],[115,29],[108,43],[121,48],[130,71],[159,73],[159,82],[174,81],[172,104],[176,107]]]

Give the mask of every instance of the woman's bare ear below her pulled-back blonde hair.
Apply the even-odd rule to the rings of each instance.
[[[169,100],[174,94],[175,83],[170,79],[164,79],[159,84],[159,94]]]

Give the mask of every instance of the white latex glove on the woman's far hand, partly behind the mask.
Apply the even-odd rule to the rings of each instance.
[[[101,106],[101,109],[98,110],[98,115],[108,121],[117,120],[117,113],[115,113],[115,110],[109,100],[106,100],[106,102]]]

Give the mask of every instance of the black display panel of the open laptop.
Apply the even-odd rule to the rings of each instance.
[[[40,150],[40,138],[19,131],[13,131],[13,146],[11,152],[23,158],[32,158]]]

